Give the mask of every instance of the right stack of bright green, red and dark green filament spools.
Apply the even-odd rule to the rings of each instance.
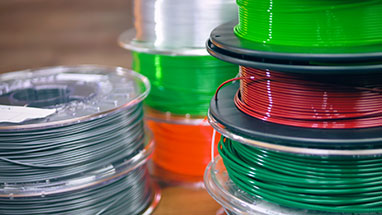
[[[240,65],[207,191],[227,214],[382,214],[382,1],[237,3],[207,42]]]

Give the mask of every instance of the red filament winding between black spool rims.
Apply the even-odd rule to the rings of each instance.
[[[382,126],[382,74],[317,75],[241,67],[235,105],[273,123],[327,129]]]

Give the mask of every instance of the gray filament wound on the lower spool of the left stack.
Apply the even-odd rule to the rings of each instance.
[[[43,197],[0,198],[0,214],[139,214],[153,200],[146,166],[126,176],[91,189]]]

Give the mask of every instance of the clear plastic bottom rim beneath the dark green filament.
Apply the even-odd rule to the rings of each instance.
[[[220,156],[207,166],[204,184],[208,193],[223,206],[228,215],[380,215],[382,213],[332,213],[296,209],[273,204],[238,188],[229,178]]]

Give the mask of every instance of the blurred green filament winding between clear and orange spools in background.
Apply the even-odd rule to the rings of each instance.
[[[235,77],[238,67],[212,56],[167,56],[133,52],[133,68],[149,78],[145,100],[155,110],[206,116],[216,88]]]

